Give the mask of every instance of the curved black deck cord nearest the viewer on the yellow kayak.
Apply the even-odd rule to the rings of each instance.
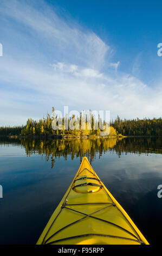
[[[47,243],[47,245],[51,245],[52,243],[60,242],[60,241],[63,241],[63,240],[69,240],[69,239],[73,239],[73,238],[79,238],[79,237],[83,237],[83,236],[105,236],[105,237],[112,237],[112,238],[116,238],[116,239],[131,240],[131,241],[140,243],[140,245],[143,244],[143,242],[140,241],[140,240],[135,240],[135,239],[122,237],[122,236],[113,236],[113,235],[105,235],[105,234],[83,234],[83,235],[77,235],[77,236],[64,237],[64,238],[59,239],[59,240],[54,240],[54,241],[51,241],[51,242]]]

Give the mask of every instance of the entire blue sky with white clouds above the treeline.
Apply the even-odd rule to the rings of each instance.
[[[0,125],[55,106],[161,116],[160,1],[0,3]]]

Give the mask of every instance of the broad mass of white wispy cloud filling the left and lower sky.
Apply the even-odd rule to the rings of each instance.
[[[58,16],[45,2],[41,6],[3,0],[0,6],[3,25],[12,27],[17,42],[6,41],[13,53],[0,59],[2,125],[38,119],[63,105],[108,109],[111,118],[161,115],[160,87],[152,89],[120,72],[120,61],[113,62],[111,47],[98,35]]]

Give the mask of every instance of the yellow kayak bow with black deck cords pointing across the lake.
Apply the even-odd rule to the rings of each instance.
[[[37,245],[148,245],[87,159],[43,230]]]

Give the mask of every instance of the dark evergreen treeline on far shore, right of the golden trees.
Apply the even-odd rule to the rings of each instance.
[[[123,136],[162,136],[161,118],[121,120],[118,117],[111,126]]]

